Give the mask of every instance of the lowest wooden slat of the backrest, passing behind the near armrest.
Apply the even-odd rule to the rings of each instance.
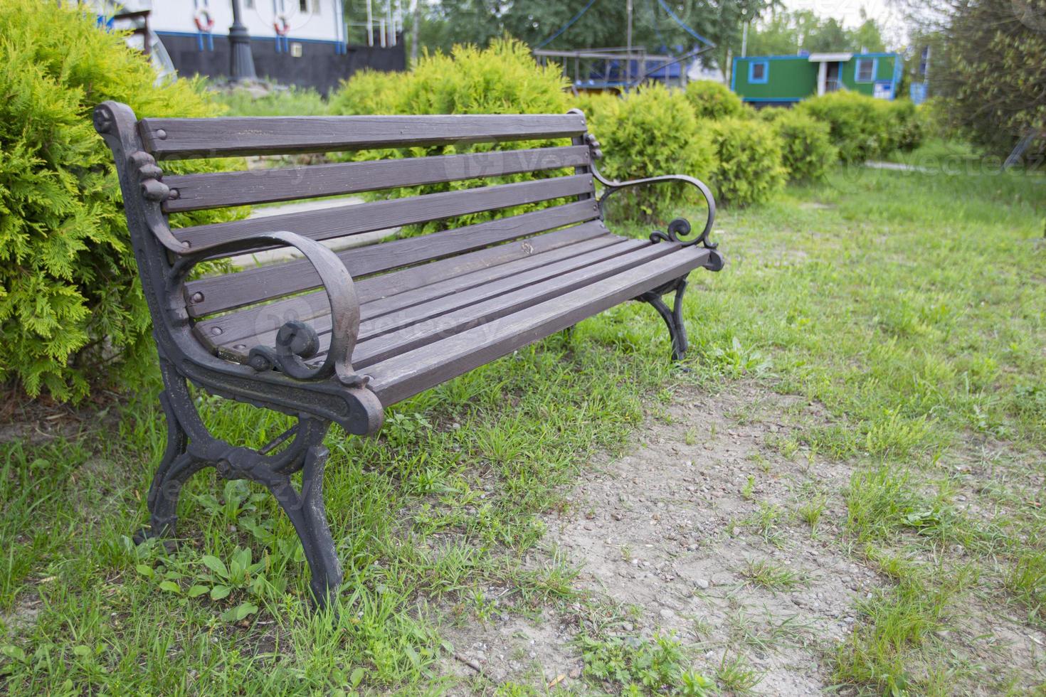
[[[593,201],[574,202],[420,237],[356,247],[339,252],[338,257],[349,274],[360,278],[593,220],[598,216],[599,209]],[[315,288],[319,283],[313,265],[304,259],[202,278],[186,284],[188,311],[191,317],[203,317]],[[191,300],[194,297],[199,300]]]

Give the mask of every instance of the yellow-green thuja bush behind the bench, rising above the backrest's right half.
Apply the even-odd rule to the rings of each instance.
[[[392,114],[565,114],[570,109],[567,82],[555,66],[539,66],[525,44],[501,39],[487,48],[455,46],[450,54],[436,52],[423,56],[413,72],[396,77],[364,75],[346,83],[332,98],[336,113]],[[363,98],[360,95],[364,95]],[[365,111],[366,110],[366,111]],[[397,153],[389,150],[358,153],[344,157],[384,158],[389,156],[432,156],[488,150],[518,149],[563,145],[569,141],[517,141],[413,147]],[[337,156],[335,156],[337,158]],[[521,182],[556,172],[523,172],[496,178],[470,179],[444,184],[396,189],[384,195],[434,193],[473,188],[479,185]],[[513,209],[474,213],[404,228],[401,235],[416,235],[434,230],[472,225],[493,217],[535,210],[558,202],[530,204]]]

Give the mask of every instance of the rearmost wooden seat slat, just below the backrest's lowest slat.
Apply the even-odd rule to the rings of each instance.
[[[607,235],[609,232],[601,222],[584,223],[572,228],[528,237],[518,243],[499,245],[420,266],[366,278],[356,283],[356,292],[360,302],[367,303],[378,298],[386,298],[435,283],[441,279],[497,266],[515,259],[537,256],[549,250]],[[245,348],[249,349],[246,344],[250,338],[278,329],[288,320],[308,321],[329,311],[326,296],[322,292],[317,292],[205,320],[197,323],[195,328],[207,342],[232,347],[237,342],[244,342]]]

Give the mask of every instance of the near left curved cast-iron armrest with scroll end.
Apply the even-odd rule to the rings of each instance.
[[[244,239],[211,245],[180,254],[172,269],[170,297],[180,297],[189,271],[199,262],[215,256],[229,256],[270,245],[293,247],[313,264],[320,277],[327,302],[331,303],[331,347],[319,366],[305,364],[319,351],[319,336],[313,327],[290,320],[276,333],[276,346],[255,346],[250,350],[248,365],[258,372],[279,368],[300,380],[320,380],[335,376],[346,387],[363,387],[367,377],[353,371],[353,349],[360,332],[360,301],[353,277],[334,252],[316,240],[294,232],[277,231],[252,235]]]

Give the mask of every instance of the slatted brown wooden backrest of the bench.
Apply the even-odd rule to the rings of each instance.
[[[395,148],[379,153],[386,157],[376,160],[162,176],[158,178],[161,185],[154,185],[157,191],[153,196],[161,200],[165,214],[469,182],[423,195],[172,230],[174,238],[189,250],[274,230],[323,240],[515,209],[513,215],[458,229],[342,252],[348,272],[361,277],[599,217],[585,117],[579,113],[145,118],[138,121],[137,129],[143,149],[160,161],[161,169],[162,161],[170,159]],[[486,152],[468,152],[477,143],[506,142],[516,149],[487,146]],[[465,152],[431,155],[432,146],[444,145]],[[537,172],[537,178],[482,185],[490,178],[523,172]],[[470,180],[475,180],[476,186]],[[520,212],[517,208],[532,204],[541,204],[540,209],[530,206],[531,210]],[[301,262],[262,266],[188,283],[186,309],[190,317],[200,318],[318,284],[311,266]]]

